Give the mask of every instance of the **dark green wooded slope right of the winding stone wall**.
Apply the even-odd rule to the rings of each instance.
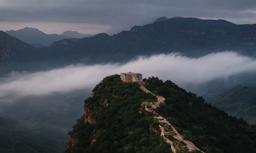
[[[256,152],[256,126],[229,116],[202,97],[186,92],[173,82],[151,77],[148,90],[166,98],[166,105],[157,108],[176,130],[201,150],[209,152]]]

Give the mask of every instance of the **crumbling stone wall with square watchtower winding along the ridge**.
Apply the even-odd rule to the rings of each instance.
[[[123,82],[138,82],[140,84],[141,90],[145,91],[146,93],[151,93],[155,95],[154,93],[145,88],[145,83],[142,82],[142,74],[140,73],[121,73],[120,78]],[[165,104],[164,97],[158,95],[155,96],[157,97],[157,102],[152,103],[152,101],[144,101],[141,103],[141,108],[145,107],[145,111],[148,112],[145,114],[153,116],[154,118],[158,119],[159,128],[161,130],[160,135],[163,136],[164,141],[166,143],[170,144],[172,151],[176,153],[177,151],[183,150],[200,150],[192,142],[184,140],[184,138],[178,133],[175,127],[155,111],[156,108],[160,107],[160,104]],[[140,113],[143,113],[143,109],[140,109]],[[151,131],[156,132],[156,130],[153,129],[153,127],[151,127]]]

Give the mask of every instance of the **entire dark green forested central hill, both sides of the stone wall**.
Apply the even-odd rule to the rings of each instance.
[[[205,103],[173,82],[151,77],[147,89],[166,98],[155,111],[204,152],[255,152],[256,127]],[[153,117],[140,114],[143,101],[156,97],[124,83],[120,75],[104,78],[84,101],[84,115],[70,132],[65,152],[170,152]],[[143,108],[142,108],[143,109]],[[151,130],[152,131],[152,130]],[[182,152],[187,152],[183,150]],[[194,151],[195,152],[195,151]]]

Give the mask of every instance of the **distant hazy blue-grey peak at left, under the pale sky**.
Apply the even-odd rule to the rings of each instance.
[[[62,36],[57,34],[46,34],[39,31],[36,28],[28,28],[28,27],[17,30],[17,31],[14,31],[14,30],[6,31],[6,33],[29,44],[39,43],[46,46],[48,46],[54,41],[69,38],[68,36]]]

